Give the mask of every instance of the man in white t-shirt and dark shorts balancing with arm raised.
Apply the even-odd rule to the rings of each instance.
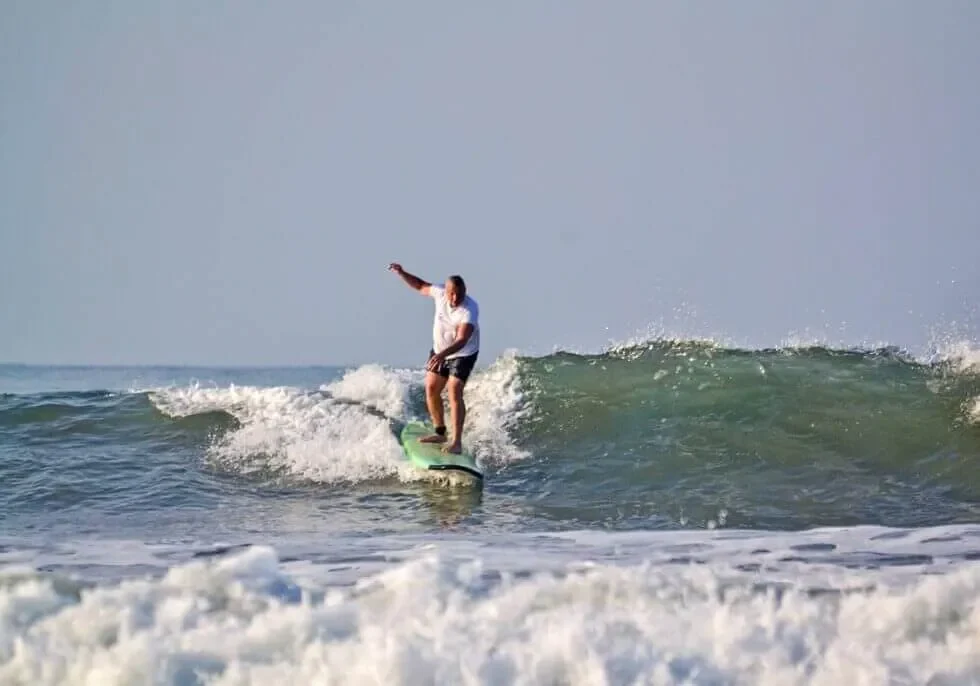
[[[410,288],[435,301],[432,349],[425,374],[425,403],[435,433],[420,440],[425,443],[446,442],[442,391],[448,387],[453,432],[443,451],[459,453],[463,449],[463,420],[466,418],[463,387],[480,352],[480,307],[466,295],[466,283],[461,276],[450,276],[445,286],[435,286],[409,274],[397,262],[388,265],[388,269],[402,277]]]

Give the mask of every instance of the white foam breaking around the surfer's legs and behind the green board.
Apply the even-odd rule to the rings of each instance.
[[[239,473],[282,471],[322,483],[387,476],[415,480],[426,475],[406,463],[392,421],[410,418],[412,394],[424,405],[423,380],[421,371],[366,365],[320,392],[195,384],[157,389],[150,399],[171,417],[213,411],[234,416],[240,426],[217,437],[209,457]],[[464,442],[482,465],[527,457],[508,433],[524,411],[513,356],[474,372],[465,398]]]

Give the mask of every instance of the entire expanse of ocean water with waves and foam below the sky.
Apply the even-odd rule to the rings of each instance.
[[[0,684],[980,683],[980,354],[0,367]]]

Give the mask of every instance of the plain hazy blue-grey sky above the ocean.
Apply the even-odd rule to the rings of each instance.
[[[980,3],[0,4],[0,360],[975,335]],[[970,333],[972,332],[972,333]]]

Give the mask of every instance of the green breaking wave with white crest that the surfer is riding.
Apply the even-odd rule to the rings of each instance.
[[[465,438],[491,480],[566,524],[968,521],[978,357],[968,344],[923,359],[682,339],[508,353],[471,378]],[[410,481],[397,430],[425,416],[422,382],[364,365],[309,387],[7,394],[0,425],[28,443],[131,442],[137,456],[191,447],[208,468],[260,479]]]

